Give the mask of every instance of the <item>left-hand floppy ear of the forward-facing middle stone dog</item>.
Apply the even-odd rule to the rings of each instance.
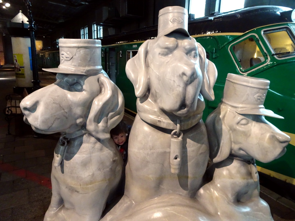
[[[137,54],[127,61],[126,75],[132,82],[137,98],[142,97],[148,90],[149,77],[147,55],[150,40],[145,41],[140,47]]]

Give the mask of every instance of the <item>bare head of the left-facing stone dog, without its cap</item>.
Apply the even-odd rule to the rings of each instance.
[[[82,128],[104,139],[120,121],[124,99],[104,72],[57,74],[54,84],[25,97],[21,108],[24,121],[38,133],[73,133]]]

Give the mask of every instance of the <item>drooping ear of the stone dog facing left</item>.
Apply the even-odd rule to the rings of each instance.
[[[96,138],[108,139],[110,130],[123,118],[124,97],[105,73],[98,78],[98,83],[101,93],[92,102],[86,130]]]

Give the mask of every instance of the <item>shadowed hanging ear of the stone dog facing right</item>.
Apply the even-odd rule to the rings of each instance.
[[[221,111],[221,105],[208,116],[206,129],[209,141],[209,157],[213,163],[223,161],[230,155],[231,135],[229,128],[225,125],[228,110]]]

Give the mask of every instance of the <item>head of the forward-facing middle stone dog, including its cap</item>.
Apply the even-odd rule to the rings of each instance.
[[[137,98],[148,96],[162,111],[176,116],[196,110],[200,91],[204,98],[214,100],[217,78],[215,65],[186,30],[186,13],[178,6],[161,9],[158,36],[145,41],[126,64]]]

